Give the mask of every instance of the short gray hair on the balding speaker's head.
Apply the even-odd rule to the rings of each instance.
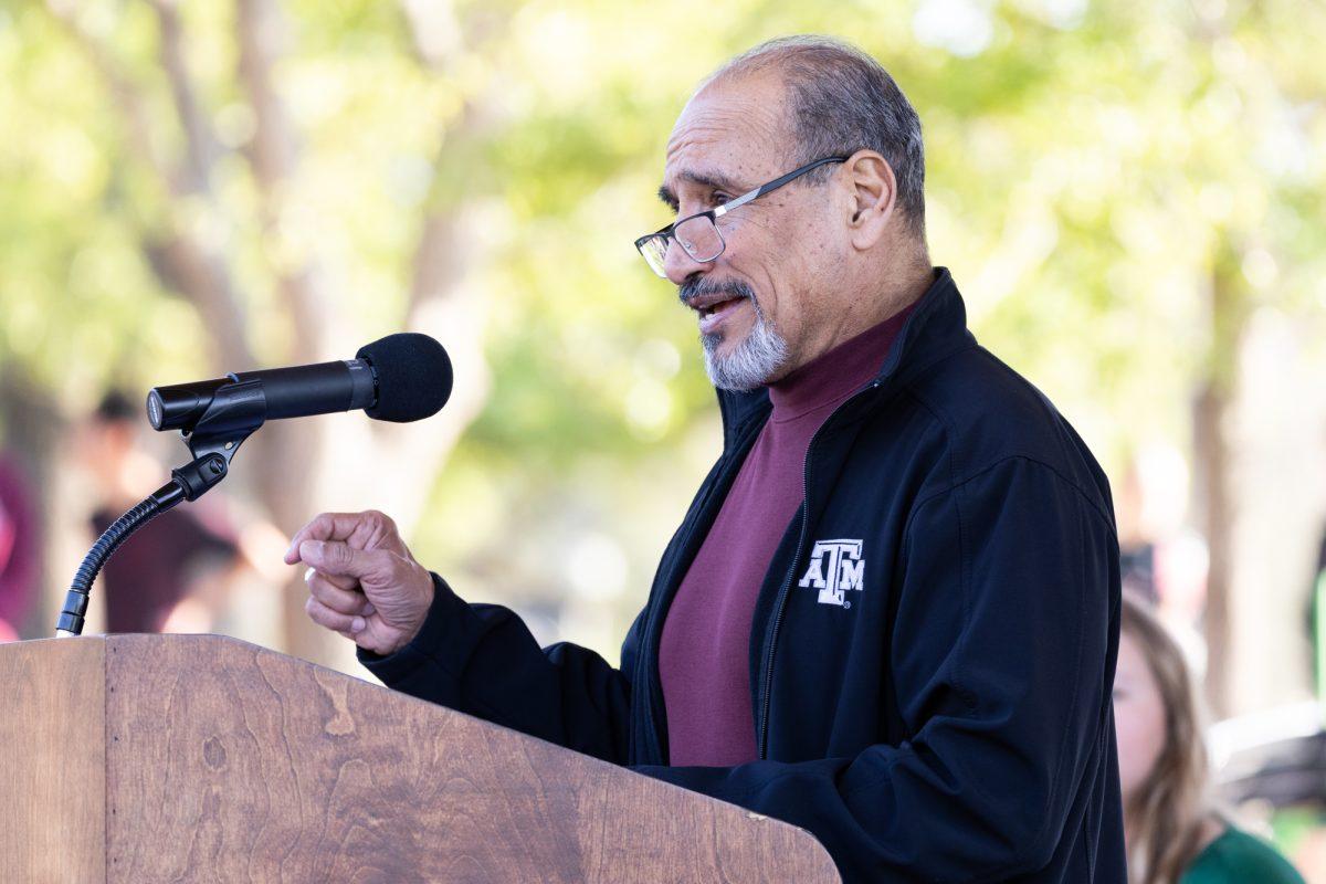
[[[776,68],[784,74],[794,156],[793,166],[821,156],[850,156],[859,150],[880,154],[894,170],[898,204],[907,225],[926,236],[926,148],[920,118],[884,68],[869,54],[831,37],[780,37],[727,62],[700,83]],[[699,90],[697,90],[699,91]],[[808,182],[823,183],[833,167],[817,168]]]

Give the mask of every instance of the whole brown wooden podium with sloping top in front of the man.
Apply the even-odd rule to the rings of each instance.
[[[838,881],[809,834],[210,635],[0,645],[0,881]]]

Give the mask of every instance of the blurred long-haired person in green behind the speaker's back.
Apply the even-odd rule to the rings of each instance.
[[[1303,884],[1274,847],[1217,810],[1177,643],[1127,592],[1120,630],[1114,724],[1128,884]]]

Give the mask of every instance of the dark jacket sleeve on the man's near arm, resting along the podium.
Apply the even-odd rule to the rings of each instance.
[[[638,770],[806,828],[845,880],[1044,868],[1083,812],[1118,812],[1095,785],[1113,751],[1113,516],[1049,467],[1009,459],[920,501],[903,547],[887,677],[904,740],[845,758]]]

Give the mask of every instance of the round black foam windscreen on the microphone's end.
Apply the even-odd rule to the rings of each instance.
[[[451,358],[426,334],[389,334],[354,355],[370,363],[378,379],[378,402],[363,410],[375,420],[423,420],[451,396]]]

